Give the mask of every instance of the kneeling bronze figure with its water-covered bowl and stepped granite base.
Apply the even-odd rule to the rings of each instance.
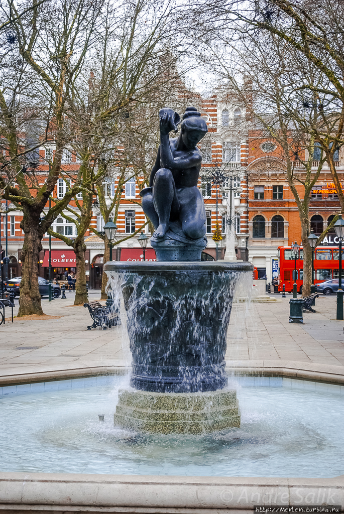
[[[201,262],[207,246],[204,200],[197,188],[207,124],[187,107],[180,123],[159,113],[160,146],[143,189],[153,223],[156,262],[108,262],[120,285],[132,353],[131,387],[119,390],[116,426],[151,433],[202,434],[240,427],[236,391],[228,389],[226,335],[234,291],[248,263]]]

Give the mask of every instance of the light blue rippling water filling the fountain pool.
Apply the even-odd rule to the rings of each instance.
[[[242,377],[241,428],[144,435],[113,425],[128,377],[11,386],[0,400],[0,471],[190,476],[344,474],[344,387]],[[1,388],[0,388],[1,392]],[[99,421],[98,415],[104,415]]]

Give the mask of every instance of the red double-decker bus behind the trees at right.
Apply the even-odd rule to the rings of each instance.
[[[344,250],[341,252],[342,259]],[[293,291],[294,282],[297,290],[302,292],[303,284],[303,249],[298,251],[296,258],[296,281],[294,277],[295,258],[291,246],[278,248],[278,290]],[[337,246],[317,246],[314,250],[314,283],[339,277],[339,250]]]

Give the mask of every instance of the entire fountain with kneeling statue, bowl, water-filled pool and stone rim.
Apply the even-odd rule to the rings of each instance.
[[[131,386],[118,362],[8,369],[0,380],[4,512],[235,514],[344,503],[342,368],[249,361],[228,387],[226,332],[251,266],[200,262],[195,145],[206,125],[187,112],[169,141],[164,132],[178,117],[162,110],[157,165],[142,192],[158,261],[105,265],[128,315]]]

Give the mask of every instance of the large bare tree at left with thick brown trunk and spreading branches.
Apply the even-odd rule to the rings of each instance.
[[[66,144],[66,97],[78,79],[87,52],[94,44],[93,38],[100,29],[98,23],[101,21],[99,15],[103,4],[96,2],[90,5],[84,0],[42,4],[33,0],[32,9],[25,14],[11,0],[9,5],[13,14],[11,26],[15,33],[16,58],[18,62],[21,60],[25,63],[26,69],[30,69],[31,98],[38,99],[30,106],[30,111],[36,113],[37,123],[35,126],[32,120],[26,123],[25,141],[20,134],[22,127],[17,116],[14,116],[13,102],[6,99],[5,89],[1,105],[7,130],[8,160],[0,178],[0,187],[4,198],[23,209],[21,228],[25,236],[19,316],[24,316],[42,314],[37,267],[41,240],[56,214],[80,190],[76,185],[42,218],[41,213],[61,170]],[[21,80],[23,84],[24,78],[21,77]],[[19,91],[15,91],[15,98],[20,101]],[[56,145],[43,185],[42,179],[38,180],[38,154],[32,154],[42,141],[53,141]],[[27,150],[27,155],[31,153],[25,163],[18,156],[18,148]],[[92,184],[89,186],[92,187]]]

